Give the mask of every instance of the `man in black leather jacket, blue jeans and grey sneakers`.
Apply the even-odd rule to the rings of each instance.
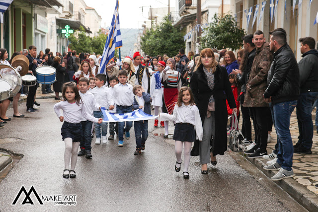
[[[293,141],[290,135],[290,117],[300,94],[299,69],[294,53],[286,41],[286,34],[274,32],[270,37],[270,50],[274,60],[268,72],[269,85],[264,93],[266,102],[272,102],[277,133],[277,161],[264,166],[265,170],[278,170],[271,179],[293,177]]]

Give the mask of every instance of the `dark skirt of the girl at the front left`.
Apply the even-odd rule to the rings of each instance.
[[[71,138],[73,142],[80,142],[81,140],[81,124],[65,122],[62,125],[61,135],[62,139]]]

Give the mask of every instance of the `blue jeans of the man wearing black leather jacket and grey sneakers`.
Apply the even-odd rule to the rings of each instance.
[[[287,171],[292,170],[294,147],[290,135],[290,117],[297,105],[297,100],[273,104],[277,134],[277,162]]]

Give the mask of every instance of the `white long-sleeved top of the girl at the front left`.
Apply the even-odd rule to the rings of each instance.
[[[91,122],[98,122],[98,119],[87,113],[86,107],[83,103],[79,105],[75,103],[69,103],[68,101],[61,101],[54,105],[54,111],[60,118],[63,110],[64,121],[77,124],[82,121],[82,117]]]

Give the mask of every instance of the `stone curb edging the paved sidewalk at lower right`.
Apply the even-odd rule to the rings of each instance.
[[[263,169],[265,165],[259,159],[247,158],[241,155],[245,160],[252,163],[256,168],[263,172],[268,178],[274,176],[278,171],[270,171]],[[280,181],[273,181],[284,191],[286,191],[292,198],[294,198],[299,204],[301,204],[308,211],[318,211],[318,196],[299,184],[293,178],[286,178]]]

